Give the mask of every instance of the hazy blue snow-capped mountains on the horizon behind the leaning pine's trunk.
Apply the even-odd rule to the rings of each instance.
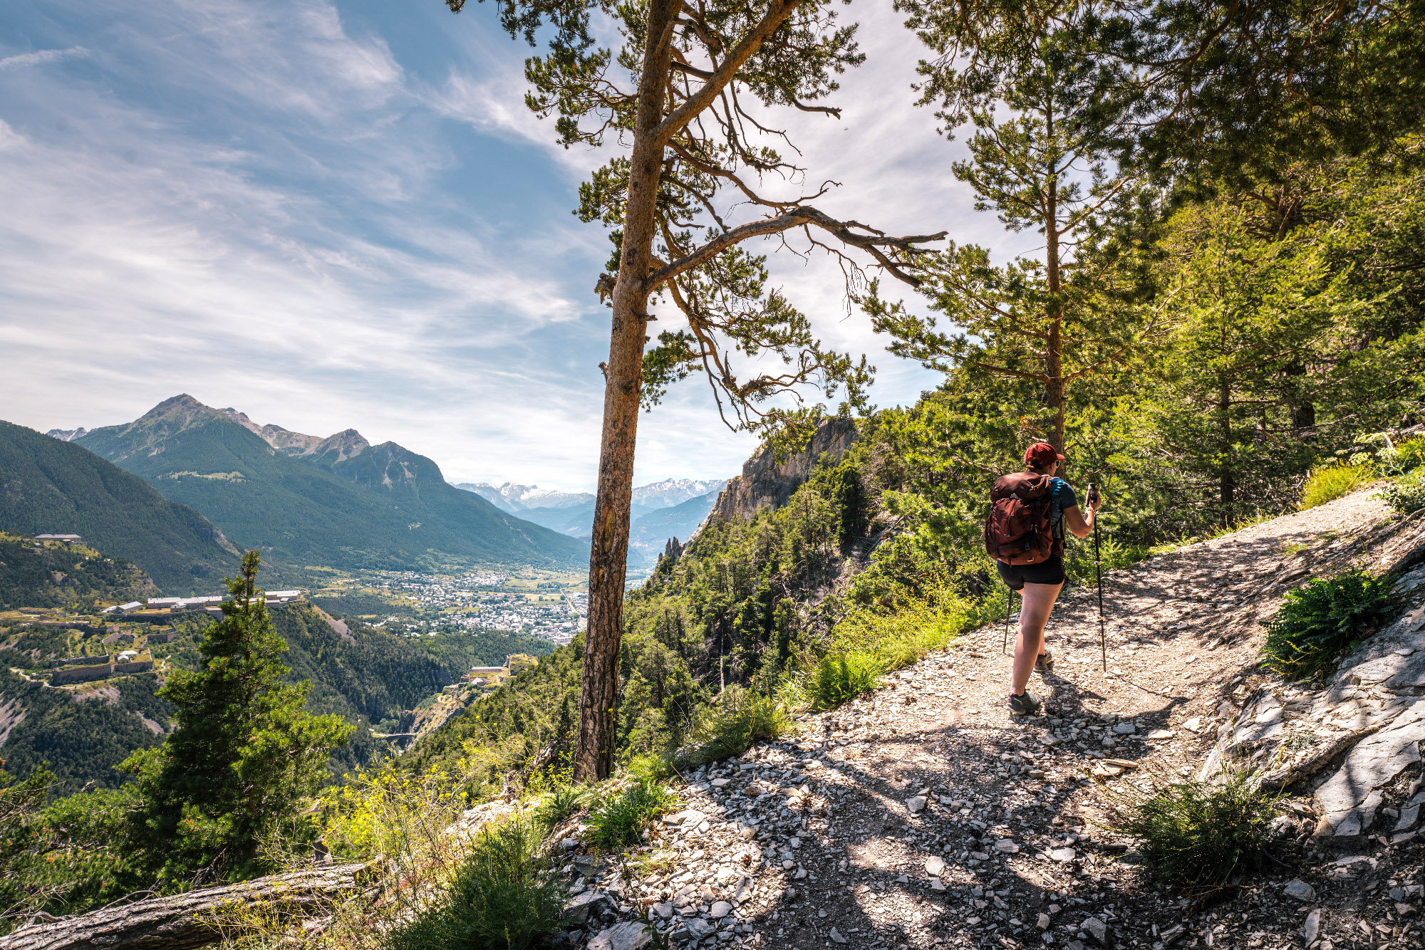
[[[547,528],[587,538],[593,534],[594,496],[553,491],[534,484],[460,483],[490,504]],[[633,490],[628,564],[651,567],[670,537],[687,538],[707,517],[727,479],[665,479]]]

